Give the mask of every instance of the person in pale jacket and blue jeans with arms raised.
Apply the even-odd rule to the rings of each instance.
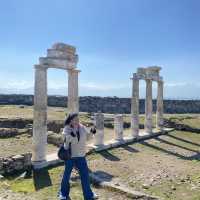
[[[81,185],[83,190],[84,200],[98,199],[98,196],[92,192],[89,181],[89,170],[85,158],[86,141],[89,135],[96,132],[92,128],[90,132],[86,127],[79,123],[78,113],[70,113],[64,123],[63,135],[65,138],[64,147],[68,148],[71,143],[71,158],[65,161],[65,171],[61,181],[61,188],[59,192],[60,200],[69,200],[70,192],[70,175],[73,167],[78,169]]]

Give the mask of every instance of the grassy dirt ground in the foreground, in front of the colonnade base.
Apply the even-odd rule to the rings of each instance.
[[[199,141],[200,134],[173,131],[151,140],[91,154],[87,156],[87,160],[90,170],[104,174],[107,181],[114,181],[165,200],[199,200]],[[62,173],[63,166],[60,166],[48,170],[48,173],[42,173],[40,181],[34,180],[34,176],[19,181],[5,179],[1,182],[3,195],[0,197],[3,200],[54,200]],[[11,190],[12,198],[10,195],[5,197],[7,189]],[[93,190],[101,196],[100,200],[128,200],[113,191],[94,187]],[[15,195],[19,198],[15,198]],[[79,183],[72,187],[71,195],[73,200],[82,199]]]

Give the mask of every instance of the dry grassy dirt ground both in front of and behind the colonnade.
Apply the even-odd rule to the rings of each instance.
[[[14,109],[14,111],[13,111]],[[0,118],[32,118],[32,108],[0,107]],[[49,118],[62,119],[63,108],[49,108]],[[84,116],[83,116],[84,117]],[[200,128],[199,115],[165,115],[177,123]],[[143,120],[143,118],[142,118]],[[126,129],[124,135],[130,135]],[[113,129],[105,129],[105,141],[114,138]],[[0,156],[31,151],[32,138],[28,134],[0,139]],[[91,142],[91,141],[90,141]],[[47,145],[47,152],[57,147]],[[92,172],[101,173],[107,181],[125,185],[164,200],[200,200],[200,134],[173,131],[167,135],[132,143],[123,147],[87,156]],[[28,178],[7,177],[0,180],[0,200],[57,199],[63,166],[54,167]],[[128,200],[122,194],[93,187],[100,200]],[[73,200],[82,200],[80,183],[72,186]]]

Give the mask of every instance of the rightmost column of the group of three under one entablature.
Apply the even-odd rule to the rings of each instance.
[[[163,128],[163,81],[158,81],[156,126]]]

